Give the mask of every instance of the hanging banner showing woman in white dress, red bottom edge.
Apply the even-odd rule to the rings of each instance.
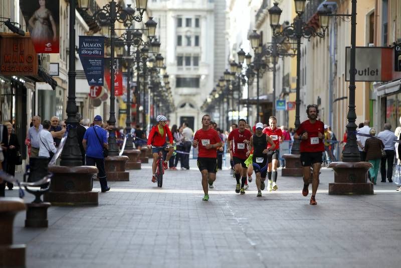
[[[36,53],[59,53],[60,0],[20,0]]]

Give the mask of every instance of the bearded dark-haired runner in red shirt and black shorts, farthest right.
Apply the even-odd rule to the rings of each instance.
[[[301,140],[300,152],[301,163],[304,171],[304,188],[302,195],[309,193],[310,166],[313,166],[312,196],[311,205],[317,205],[315,196],[319,186],[319,172],[322,164],[322,153],[324,152],[324,123],[317,120],[319,110],[316,104],[308,105],[306,108],[308,120],[305,120],[298,127],[294,139]]]

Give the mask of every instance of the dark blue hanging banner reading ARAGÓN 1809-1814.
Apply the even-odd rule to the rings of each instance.
[[[79,59],[90,86],[104,84],[104,37],[79,36]]]

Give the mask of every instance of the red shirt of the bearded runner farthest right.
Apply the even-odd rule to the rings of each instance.
[[[301,140],[300,152],[324,152],[323,140],[318,138],[318,133],[322,133],[324,137],[324,123],[322,121],[316,120],[315,123],[311,123],[305,120],[297,129],[298,136],[303,133],[308,133],[307,140]]]

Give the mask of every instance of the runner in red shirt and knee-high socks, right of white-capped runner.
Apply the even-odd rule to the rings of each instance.
[[[267,161],[268,161],[268,166],[267,166],[267,189],[269,191],[276,191],[278,189],[277,187],[277,166],[279,163],[279,149],[280,149],[280,143],[283,143],[284,141],[284,135],[283,132],[279,127],[277,127],[277,118],[275,116],[270,116],[269,118],[269,126],[265,127],[263,129],[263,133],[267,134],[272,138],[274,144],[276,145],[276,148],[274,151],[269,152],[267,154]],[[267,146],[267,148],[270,148],[270,145]],[[273,176],[273,180],[272,180]]]

